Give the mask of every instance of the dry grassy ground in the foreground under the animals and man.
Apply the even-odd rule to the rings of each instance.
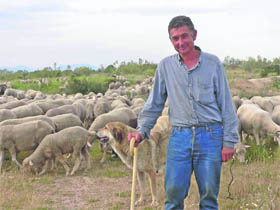
[[[234,161],[232,165],[233,183],[230,167],[232,161],[223,164],[220,209],[280,209],[280,155],[279,148],[259,146],[257,158],[252,148],[248,152],[247,163]],[[269,152],[271,151],[271,152]],[[268,155],[267,155],[267,154]],[[21,154],[22,160],[27,154]],[[131,176],[129,170],[119,159],[110,156],[105,164],[100,164],[102,153],[95,143],[91,151],[92,169],[79,170],[75,176],[65,177],[64,169],[50,171],[38,177],[30,172],[19,171],[9,160],[4,162],[4,172],[0,176],[0,209],[129,209]],[[254,160],[253,160],[254,159]],[[70,164],[71,161],[69,161]],[[148,201],[136,209],[151,210],[164,208],[163,175],[158,176],[158,189],[161,203],[150,207],[150,190],[147,187]],[[139,193],[137,188],[137,194]],[[194,178],[185,209],[198,209],[199,195]]]

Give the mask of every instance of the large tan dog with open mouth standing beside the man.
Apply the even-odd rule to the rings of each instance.
[[[161,116],[151,130],[150,139],[141,142],[138,146],[137,178],[140,198],[136,201],[136,205],[145,201],[145,174],[148,175],[150,181],[152,205],[158,205],[156,173],[161,171],[165,165],[170,130],[171,125],[168,117]],[[122,162],[132,169],[133,157],[129,154],[129,142],[127,140],[127,135],[131,132],[135,132],[135,129],[120,122],[109,122],[104,128],[98,130],[97,136],[100,142],[109,143]]]

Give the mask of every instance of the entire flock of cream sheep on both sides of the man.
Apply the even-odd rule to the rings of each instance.
[[[6,152],[19,168],[40,174],[50,167],[54,169],[57,162],[63,165],[66,175],[73,175],[83,160],[90,169],[89,150],[95,132],[112,121],[135,128],[145,103],[143,95],[149,94],[152,85],[153,77],[133,86],[122,79],[111,83],[105,94],[47,95],[31,89],[16,90],[9,84],[0,92],[0,173],[5,170],[2,163]],[[240,162],[245,161],[244,142],[249,138],[265,144],[265,138],[271,136],[280,145],[280,96],[233,96],[233,103],[242,140],[235,148]],[[168,115],[168,101],[162,115]],[[20,163],[17,154],[22,151],[32,153]],[[64,160],[68,154],[74,160],[72,171]]]

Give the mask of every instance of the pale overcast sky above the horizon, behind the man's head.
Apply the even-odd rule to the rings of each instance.
[[[1,0],[0,66],[158,63],[175,51],[167,26],[191,17],[203,51],[280,57],[279,0]]]

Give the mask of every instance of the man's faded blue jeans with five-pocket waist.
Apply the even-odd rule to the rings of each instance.
[[[219,123],[172,127],[166,156],[165,210],[184,209],[193,171],[200,194],[199,208],[218,209],[222,139]]]

